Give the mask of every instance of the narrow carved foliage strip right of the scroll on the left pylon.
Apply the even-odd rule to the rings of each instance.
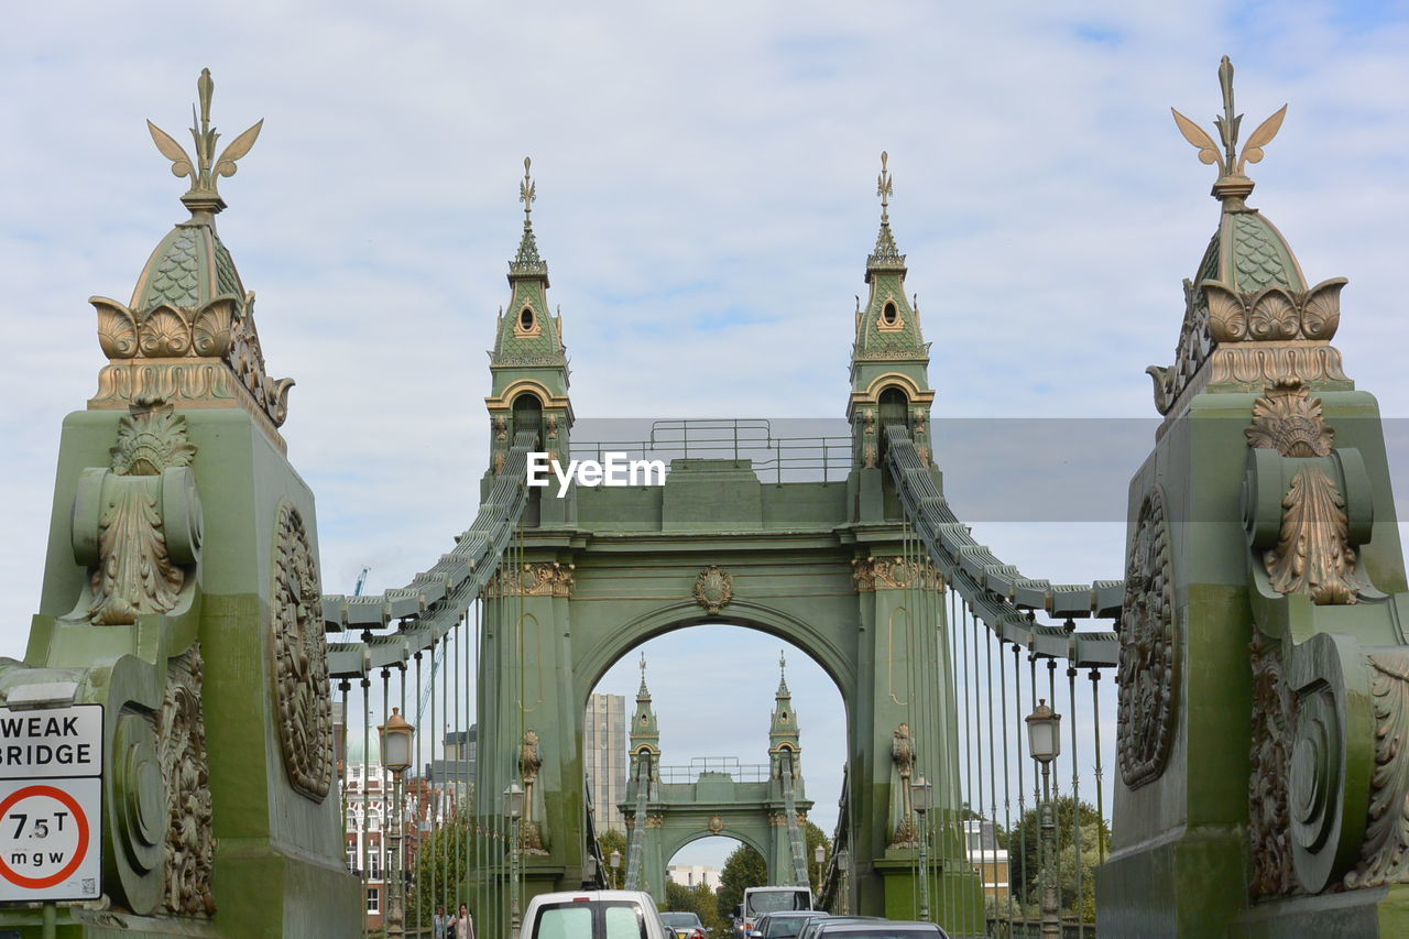
[[[169,818],[163,905],[176,915],[210,916],[216,912],[210,883],[216,840],[210,835],[210,764],[200,698],[204,661],[199,643],[172,658],[166,674],[166,699],[158,719]]]

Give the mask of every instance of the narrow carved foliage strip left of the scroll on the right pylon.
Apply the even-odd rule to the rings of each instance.
[[[1292,866],[1288,770],[1295,743],[1295,698],[1286,684],[1281,644],[1254,626],[1253,743],[1248,777],[1248,846],[1254,898],[1284,897],[1296,890]]]

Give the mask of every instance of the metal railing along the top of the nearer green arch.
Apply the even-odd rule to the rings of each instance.
[[[782,437],[761,419],[723,417],[657,420],[640,440],[572,441],[569,460],[659,460],[669,474],[674,460],[748,461],[762,482],[841,482],[851,471],[847,436]]]

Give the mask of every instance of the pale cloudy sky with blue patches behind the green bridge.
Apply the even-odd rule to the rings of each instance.
[[[220,231],[299,382],[283,431],[324,587],[351,591],[364,565],[406,582],[473,517],[524,155],[579,416],[840,415],[885,148],[937,416],[1150,417],[1144,367],[1172,358],[1217,213],[1168,107],[1208,124],[1229,54],[1248,121],[1291,103],[1250,202],[1312,282],[1350,278],[1347,372],[1405,416],[1406,48],[1403,3],[30,4],[0,35],[0,654],[38,599],[59,423],[103,364],[86,299],[125,300],[185,214],[142,121],[183,137],[201,66],[227,141],[265,118]],[[1110,522],[981,534],[1055,582],[1120,574]],[[652,643],[671,749],[761,750],[776,647],[750,653],[757,701],[712,696],[706,722],[692,685],[738,647]],[[826,806],[841,704],[802,661],[793,688]]]

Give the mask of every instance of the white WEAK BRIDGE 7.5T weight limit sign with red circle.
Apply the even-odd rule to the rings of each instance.
[[[0,708],[0,901],[101,892],[103,706]]]

